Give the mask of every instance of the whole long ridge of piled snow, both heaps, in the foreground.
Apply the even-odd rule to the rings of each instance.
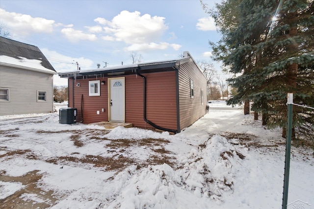
[[[178,170],[164,163],[141,170],[129,167],[128,172],[121,172],[114,181],[126,182],[119,188],[110,188],[117,192],[116,198],[105,208],[189,208],[186,204],[191,204],[190,207],[201,204],[198,201],[180,202],[182,195],[194,195],[193,199],[202,199],[204,205],[209,199],[220,205],[223,193],[233,189],[235,169],[240,169],[239,162],[245,157],[219,135],[209,139],[204,146],[192,149],[182,157],[183,168]]]

